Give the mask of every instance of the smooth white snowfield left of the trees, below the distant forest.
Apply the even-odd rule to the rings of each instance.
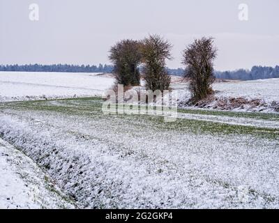
[[[102,95],[113,82],[98,73],[0,72],[0,102]]]

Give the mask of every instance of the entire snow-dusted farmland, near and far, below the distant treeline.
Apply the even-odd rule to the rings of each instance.
[[[27,180],[20,174],[24,169],[15,169],[22,163],[15,161],[20,156],[28,160],[27,171],[33,169],[30,165],[38,167],[37,175],[29,171],[29,181],[48,179],[32,181],[36,196],[11,195],[26,201],[25,207],[279,208],[276,113],[189,108],[179,109],[173,123],[162,116],[105,115],[99,96],[113,83],[111,77],[50,74],[49,79],[38,74],[34,80],[29,74],[1,75],[0,172],[8,183],[1,179],[0,185],[9,188],[0,190],[1,207],[15,205],[6,199],[14,180],[23,185]],[[266,88],[255,82],[214,87],[223,95],[243,88],[241,96],[278,100],[277,79],[264,81]],[[255,91],[249,94],[248,86]],[[173,87],[182,90],[185,84]],[[38,100],[42,95],[49,100]],[[45,201],[37,194],[44,194]]]

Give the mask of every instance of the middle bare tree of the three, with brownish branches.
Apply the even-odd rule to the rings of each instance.
[[[165,60],[172,59],[171,49],[172,45],[158,35],[151,35],[142,40],[141,52],[146,89],[152,91],[169,89],[170,77],[167,74]]]

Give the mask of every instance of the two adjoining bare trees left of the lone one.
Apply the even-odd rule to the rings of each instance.
[[[144,40],[121,40],[110,49],[110,61],[114,63],[117,84],[137,86],[140,84],[140,65],[146,89],[169,89],[166,59],[171,59],[172,45],[158,35]]]

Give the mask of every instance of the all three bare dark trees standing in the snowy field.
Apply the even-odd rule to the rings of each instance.
[[[159,35],[144,40],[121,40],[110,49],[110,61],[114,64],[116,84],[140,85],[140,70],[146,89],[168,90],[171,78],[167,73],[166,60],[172,59],[172,45]],[[201,38],[183,50],[183,65],[190,79],[191,102],[197,102],[213,93],[213,60],[217,49],[213,38]],[[142,68],[140,69],[140,66]]]

